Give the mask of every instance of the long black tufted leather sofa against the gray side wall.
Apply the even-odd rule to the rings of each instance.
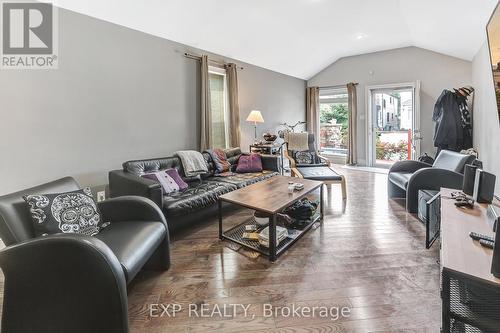
[[[242,154],[241,150],[231,148],[225,152],[234,170]],[[220,195],[273,177],[279,171],[277,156],[262,155],[263,172],[218,177],[214,174],[214,163],[210,155],[204,152],[203,156],[209,172],[195,178],[185,177],[182,163],[175,156],[125,162],[122,170],[109,172],[110,196],[139,195],[151,199],[165,214],[169,230],[173,233],[213,214]],[[158,182],[141,177],[144,173],[169,168],[179,171],[189,185],[187,190],[164,195]]]

